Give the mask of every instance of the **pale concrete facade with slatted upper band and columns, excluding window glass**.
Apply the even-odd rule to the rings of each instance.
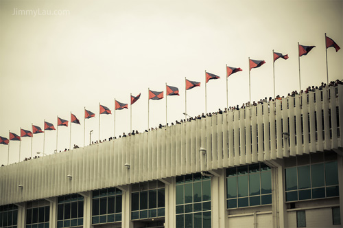
[[[1,167],[0,205],[18,205],[17,227],[25,227],[26,202],[46,199],[49,225],[57,227],[57,197],[78,193],[84,196],[83,227],[133,228],[131,185],[160,180],[165,227],[176,227],[176,176],[206,172],[212,176],[211,227],[296,227],[297,211],[305,211],[306,227],[342,227],[332,221],[333,207],[343,218],[342,123],[338,85]],[[284,159],[327,151],[338,157],[340,196],[286,203]],[[226,168],[259,162],[272,168],[272,204],[226,209]],[[123,191],[121,223],[93,226],[92,191],[107,187]]]

